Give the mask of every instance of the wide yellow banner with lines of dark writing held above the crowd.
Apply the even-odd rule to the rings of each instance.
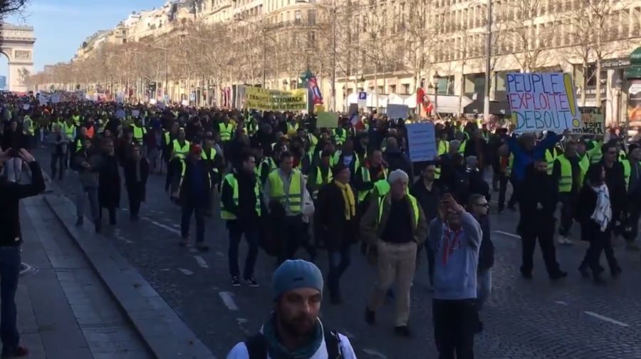
[[[245,88],[245,107],[262,111],[306,110],[306,92],[305,89],[278,91],[247,86]]]

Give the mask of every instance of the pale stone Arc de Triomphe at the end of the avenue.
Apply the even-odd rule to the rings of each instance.
[[[9,60],[7,89],[26,92],[26,78],[33,74],[33,27],[0,24],[0,52]]]

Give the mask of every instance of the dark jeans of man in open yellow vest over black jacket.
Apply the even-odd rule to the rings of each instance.
[[[239,276],[240,269],[238,268],[238,247],[245,234],[245,239],[249,245],[247,251],[247,258],[245,259],[245,268],[243,271],[244,279],[250,279],[254,276],[254,267],[256,266],[256,258],[258,257],[259,245],[259,231],[257,228],[250,228],[247,224],[241,224],[237,220],[227,222],[229,229],[229,274],[231,276]]]

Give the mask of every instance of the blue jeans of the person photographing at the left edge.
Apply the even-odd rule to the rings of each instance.
[[[0,247],[0,340],[3,350],[17,348],[20,342],[16,323],[16,290],[20,261],[19,246]]]

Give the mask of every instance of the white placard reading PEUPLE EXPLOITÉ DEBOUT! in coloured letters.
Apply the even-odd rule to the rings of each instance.
[[[514,132],[563,132],[581,127],[570,74],[508,73],[506,88]]]

